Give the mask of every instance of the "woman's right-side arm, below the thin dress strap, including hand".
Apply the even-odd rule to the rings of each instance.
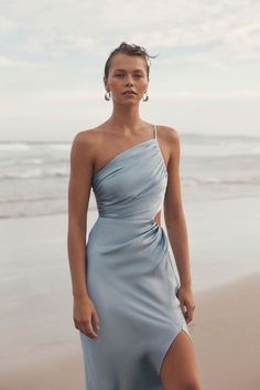
[[[170,146],[170,158],[167,162],[169,180],[164,198],[164,220],[180,275],[181,291],[178,297],[182,306],[185,305],[187,307],[185,316],[191,320],[195,305],[191,293],[192,276],[188,255],[188,236],[180,183],[181,141],[177,131],[173,128],[170,128],[167,133],[167,145]]]

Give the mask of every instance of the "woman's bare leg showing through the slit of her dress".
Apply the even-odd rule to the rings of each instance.
[[[181,330],[164,356],[160,377],[164,390],[202,390],[194,346]]]

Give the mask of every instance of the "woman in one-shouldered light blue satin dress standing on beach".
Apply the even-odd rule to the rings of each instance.
[[[105,66],[110,118],[72,145],[68,257],[87,390],[201,389],[187,324],[194,299],[181,200],[180,137],[141,119],[149,59],[122,42]],[[90,189],[98,219],[86,245]],[[161,207],[176,261],[161,228]]]

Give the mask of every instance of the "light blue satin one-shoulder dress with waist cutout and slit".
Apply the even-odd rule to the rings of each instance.
[[[93,178],[99,215],[88,235],[86,280],[100,330],[98,338],[79,331],[86,390],[162,390],[164,355],[182,329],[191,337],[169,240],[153,220],[167,185],[154,130]]]

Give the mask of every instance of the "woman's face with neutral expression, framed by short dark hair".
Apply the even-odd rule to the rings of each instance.
[[[119,104],[138,104],[148,88],[145,61],[139,55],[117,53],[111,59],[108,78],[104,77],[107,92]],[[126,91],[133,91],[128,94]]]

